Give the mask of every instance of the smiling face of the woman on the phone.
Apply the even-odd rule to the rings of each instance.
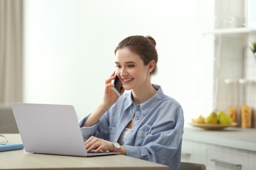
[[[116,75],[123,83],[125,90],[140,89],[150,78],[148,65],[144,65],[138,54],[121,48],[116,52]]]

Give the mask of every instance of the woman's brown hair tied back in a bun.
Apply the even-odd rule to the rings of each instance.
[[[158,63],[158,52],[156,52],[156,41],[150,35],[146,37],[142,35],[134,35],[123,39],[119,42],[116,47],[115,54],[117,50],[121,48],[129,48],[131,52],[134,52],[140,56],[143,60],[144,65],[148,65],[150,61],[154,60],[156,64]],[[157,67],[155,65],[154,69],[151,71],[150,75],[156,75]]]

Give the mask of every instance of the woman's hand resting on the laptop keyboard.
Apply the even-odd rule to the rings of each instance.
[[[90,137],[87,141],[85,141],[85,148],[87,152],[91,152],[91,150],[95,150],[95,152],[103,151],[112,151],[114,146],[110,141],[105,141],[103,139],[99,139],[98,137]]]

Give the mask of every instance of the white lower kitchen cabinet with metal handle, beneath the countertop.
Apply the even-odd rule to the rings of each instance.
[[[183,140],[182,161],[204,163],[207,169],[256,170],[256,152]]]

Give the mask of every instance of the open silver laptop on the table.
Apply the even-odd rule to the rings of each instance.
[[[26,152],[68,156],[102,156],[88,153],[72,105],[11,103]]]

